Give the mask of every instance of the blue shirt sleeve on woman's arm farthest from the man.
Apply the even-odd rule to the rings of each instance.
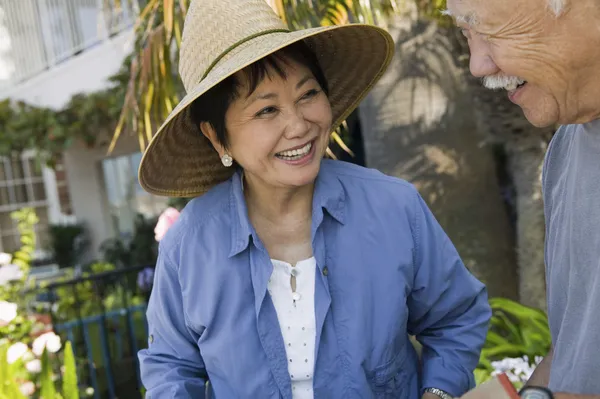
[[[148,348],[139,352],[146,398],[205,398],[199,336],[186,324],[178,273],[164,252],[158,258],[146,315]]]

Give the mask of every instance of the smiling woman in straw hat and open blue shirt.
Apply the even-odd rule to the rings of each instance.
[[[197,196],[160,241],[147,397],[203,398],[207,381],[217,398],[472,388],[484,286],[413,186],[323,159],[389,65],[389,34],[288,32],[264,0],[198,0],[183,43],[188,95],[140,165],[149,192]]]

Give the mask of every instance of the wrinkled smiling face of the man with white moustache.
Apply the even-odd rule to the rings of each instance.
[[[447,0],[469,41],[471,73],[488,88],[506,89],[535,126],[574,123],[591,112],[584,103],[598,74],[589,62],[599,48],[589,33],[597,13],[586,16],[581,4],[588,1],[578,2],[557,17],[547,0]]]

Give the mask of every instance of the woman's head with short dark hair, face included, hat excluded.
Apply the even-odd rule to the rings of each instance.
[[[225,79],[190,106],[190,117],[221,158],[243,167],[246,180],[302,186],[315,179],[327,148],[327,94],[317,58],[298,42]]]

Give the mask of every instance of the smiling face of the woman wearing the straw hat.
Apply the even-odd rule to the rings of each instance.
[[[332,124],[327,95],[310,69],[286,59],[248,94],[243,73],[240,95],[225,113],[228,148],[249,184],[294,188],[314,182],[327,149]],[[203,131],[206,126],[203,127]]]

